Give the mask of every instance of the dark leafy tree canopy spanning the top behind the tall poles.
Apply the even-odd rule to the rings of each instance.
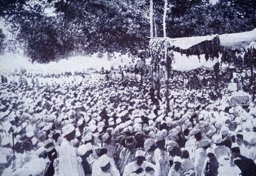
[[[149,3],[149,0],[2,0],[0,17],[17,35],[17,41],[23,43],[32,62],[48,63],[94,53],[100,57],[115,52],[145,59],[150,53],[146,38],[150,36]],[[215,4],[209,0],[169,0],[168,4],[166,35],[171,38],[256,28],[255,0],[219,0]],[[158,37],[163,37],[163,7],[164,1],[153,0]],[[52,9],[53,14],[46,14],[46,9]],[[0,49],[3,51],[4,47],[1,45]]]

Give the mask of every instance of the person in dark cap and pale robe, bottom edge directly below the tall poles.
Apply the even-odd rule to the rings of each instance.
[[[154,151],[153,161],[156,163],[156,176],[167,176],[170,169],[169,156],[162,136],[156,139],[157,149]]]

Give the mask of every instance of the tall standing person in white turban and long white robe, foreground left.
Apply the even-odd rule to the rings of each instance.
[[[76,151],[71,140],[76,137],[76,130],[72,124],[62,128],[64,137],[59,149],[59,175],[60,176],[84,176],[84,170],[76,157]]]

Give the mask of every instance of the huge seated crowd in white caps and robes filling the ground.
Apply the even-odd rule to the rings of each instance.
[[[0,175],[256,176],[250,72],[130,70],[1,76]]]

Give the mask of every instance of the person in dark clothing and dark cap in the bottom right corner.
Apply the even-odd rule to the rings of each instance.
[[[256,176],[256,165],[252,159],[241,156],[239,147],[231,148],[233,162],[239,167],[242,176]]]

